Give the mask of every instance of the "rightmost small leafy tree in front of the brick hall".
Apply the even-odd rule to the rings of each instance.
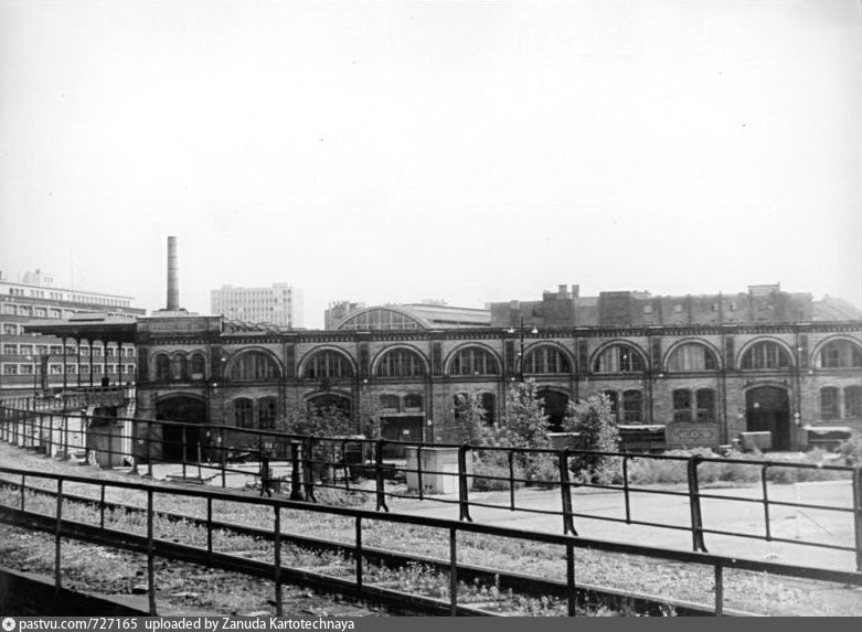
[[[578,443],[590,453],[577,453],[570,469],[584,482],[609,483],[619,476],[619,459],[595,452],[619,450],[619,430],[607,395],[592,395],[568,403],[563,429],[577,432]]]

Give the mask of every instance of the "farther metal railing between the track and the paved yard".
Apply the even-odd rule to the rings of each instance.
[[[76,420],[77,419],[77,426]],[[0,406],[0,439],[22,448],[36,449],[49,454],[70,454],[83,451],[85,457],[87,432],[94,433],[93,417],[68,413],[43,411],[32,408]],[[391,499],[413,499],[440,504],[457,505],[459,519],[472,521],[471,510],[490,508],[557,516],[562,533],[577,535],[577,525],[585,519],[606,521],[645,527],[688,532],[692,550],[707,551],[706,537],[725,536],[784,543],[804,547],[831,549],[854,555],[855,568],[862,570],[862,467],[834,464],[794,463],[765,459],[725,459],[719,457],[690,457],[635,452],[594,452],[588,450],[539,450],[526,448],[499,448],[489,446],[398,442],[356,437],[321,438],[289,435],[275,431],[240,429],[227,426],[205,426],[150,419],[117,419],[116,432],[106,435],[107,447],[100,452],[108,461],[126,460],[132,471],[153,476],[153,467],[172,463],[178,478],[202,481],[205,468],[210,480],[222,488],[228,478],[252,481],[249,484],[260,494],[289,493],[291,500],[317,501],[319,490],[343,490],[366,494],[374,499],[377,511],[389,511]],[[70,439],[72,437],[72,440]],[[113,439],[111,439],[113,437]],[[115,439],[115,440],[114,440]],[[77,441],[77,443],[75,443]],[[83,444],[82,444],[83,443]],[[129,446],[124,451],[123,446]],[[120,449],[118,449],[118,447]],[[384,459],[389,448],[408,453],[409,462]],[[424,456],[449,452],[446,465],[424,465]],[[166,458],[166,452],[173,457]],[[589,480],[577,469],[581,461],[604,459],[615,463],[614,478],[609,482]],[[243,465],[252,461],[253,465]],[[684,481],[684,489],[666,489],[639,484],[632,480],[632,464],[649,462],[653,465],[675,467]],[[489,465],[490,463],[490,465]],[[710,467],[735,468],[745,472],[744,478],[754,483],[759,495],[745,497],[715,490],[702,489]],[[277,476],[276,470],[284,472]],[[751,474],[748,472],[755,472]],[[196,476],[190,475],[196,473]],[[848,481],[843,505],[780,500],[773,496],[769,485],[773,475],[784,474],[796,480],[813,473],[816,476],[833,475]],[[429,481],[436,481],[438,491],[428,492]],[[405,482],[409,484],[404,484]],[[497,488],[504,492],[504,501],[493,502],[488,494],[476,495],[477,488]],[[535,488],[553,488],[558,504],[553,507],[531,506],[522,501],[521,491]],[[620,514],[602,515],[583,510],[578,505],[581,494],[599,490],[620,496]],[[289,490],[289,492],[288,492]],[[637,508],[635,497],[684,499],[689,515],[684,523],[671,523],[655,517],[649,508]],[[763,517],[759,531],[738,531],[711,525],[704,517],[703,503],[720,501],[739,503],[737,506],[756,508]],[[819,511],[847,516],[854,542],[822,542],[816,538],[783,537],[771,527],[776,510],[795,512]]]

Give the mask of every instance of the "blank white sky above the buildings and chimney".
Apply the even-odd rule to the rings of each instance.
[[[0,0],[0,270],[862,304],[860,0]]]

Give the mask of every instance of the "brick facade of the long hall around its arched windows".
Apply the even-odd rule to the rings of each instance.
[[[632,300],[615,303],[626,310]],[[704,311],[703,306],[699,308]],[[638,310],[635,310],[636,312]],[[710,306],[710,312],[712,308]],[[629,313],[631,313],[629,311]],[[704,312],[705,313],[705,312]],[[172,326],[182,323],[159,323],[148,330],[145,323],[139,354],[139,413],[152,415],[157,401],[164,397],[187,395],[206,401],[207,422],[232,425],[232,403],[237,397],[258,400],[275,397],[279,414],[289,406],[302,405],[322,395],[339,395],[350,403],[355,429],[360,431],[369,415],[398,413],[417,415],[426,421],[426,440],[447,441],[458,436],[454,418],[453,397],[458,393],[490,393],[496,398],[494,415],[504,414],[506,389],[518,377],[521,334],[524,353],[529,355],[543,345],[551,345],[568,360],[570,371],[562,374],[540,374],[526,377],[543,388],[564,393],[571,399],[593,393],[611,390],[624,394],[639,390],[642,410],[635,424],[669,427],[669,437],[679,444],[692,442],[715,447],[728,443],[747,428],[746,393],[760,386],[776,386],[788,395],[788,410],[794,427],[804,425],[841,425],[862,430],[862,416],[842,410],[838,419],[823,419],[820,389],[862,387],[862,366],[820,368],[817,354],[829,340],[845,340],[862,349],[862,323],[751,323],[722,325],[651,325],[607,328],[546,328],[536,335],[525,331],[508,333],[502,329],[471,329],[411,332],[292,332],[243,333],[220,331],[220,319],[185,319],[182,331]],[[155,320],[151,324],[155,324]],[[770,341],[785,349],[791,358],[787,367],[743,369],[741,360],[751,345]],[[678,345],[702,344],[717,360],[713,369],[672,372],[669,357]],[[596,371],[596,358],[609,346],[628,345],[642,357],[643,371],[603,374]],[[465,349],[486,350],[496,360],[498,371],[490,375],[454,375],[451,362]],[[414,351],[426,371],[421,377],[381,377],[377,366],[385,354],[397,349]],[[272,379],[232,382],[224,371],[249,351],[263,351],[276,360],[278,376]],[[351,375],[321,379],[308,377],[306,366],[315,354],[323,351],[341,354],[351,366]],[[153,358],[159,353],[200,352],[206,355],[207,373],[200,379],[178,382],[155,378]],[[709,388],[715,393],[714,420],[698,425],[674,422],[673,390]],[[383,395],[401,401],[409,394],[423,397],[421,409],[380,410]],[[620,401],[621,405],[621,401]],[[430,420],[428,425],[427,421]],[[621,419],[620,422],[624,422]],[[675,425],[674,425],[675,424]]]

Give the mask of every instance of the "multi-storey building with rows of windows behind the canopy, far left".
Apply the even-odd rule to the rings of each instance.
[[[41,270],[12,281],[0,272],[0,395],[41,393],[66,385],[113,384],[135,379],[132,344],[93,344],[25,333],[25,324],[83,314],[102,318],[145,315],[126,296],[56,287]],[[82,321],[83,322],[83,321]]]

